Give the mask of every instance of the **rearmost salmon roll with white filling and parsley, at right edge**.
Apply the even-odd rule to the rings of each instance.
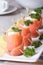
[[[42,16],[41,16],[41,14],[39,14],[35,11],[32,11],[29,16],[32,19],[35,19],[33,21],[33,23],[37,26],[38,29],[42,27]]]

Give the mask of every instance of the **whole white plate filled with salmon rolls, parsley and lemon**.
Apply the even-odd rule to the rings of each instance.
[[[43,28],[40,29],[42,18],[38,12],[17,20],[7,32],[3,32],[0,36],[0,60],[36,62],[40,58],[43,52]]]

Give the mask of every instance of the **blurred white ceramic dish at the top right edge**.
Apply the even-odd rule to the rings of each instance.
[[[43,0],[16,0],[23,7],[37,8],[43,6]]]

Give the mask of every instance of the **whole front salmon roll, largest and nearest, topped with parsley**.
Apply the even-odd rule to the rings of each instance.
[[[7,49],[10,55],[18,56],[23,51],[22,36],[18,28],[13,27],[12,29],[13,31],[6,35]]]

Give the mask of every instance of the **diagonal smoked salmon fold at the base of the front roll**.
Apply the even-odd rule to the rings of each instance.
[[[23,52],[23,44],[19,45],[16,48],[13,48],[12,51],[10,52],[10,55],[19,56],[22,54],[22,52]]]

